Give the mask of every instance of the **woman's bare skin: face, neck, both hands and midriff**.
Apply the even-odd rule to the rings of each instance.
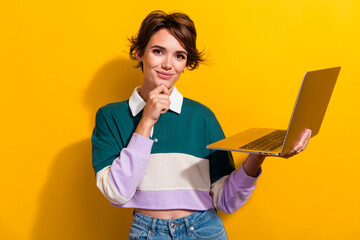
[[[187,51],[182,44],[166,29],[156,32],[149,40],[145,50],[136,51],[136,58],[143,63],[144,80],[139,95],[146,101],[142,118],[135,133],[149,138],[152,127],[161,114],[170,108],[169,96],[174,84],[186,70]],[[311,137],[311,130],[307,129],[299,139],[298,144],[284,158],[289,158],[303,151]],[[264,162],[265,156],[249,154],[244,162],[245,172],[256,177]],[[156,218],[172,219],[187,216],[193,210],[149,210],[137,211]]]

